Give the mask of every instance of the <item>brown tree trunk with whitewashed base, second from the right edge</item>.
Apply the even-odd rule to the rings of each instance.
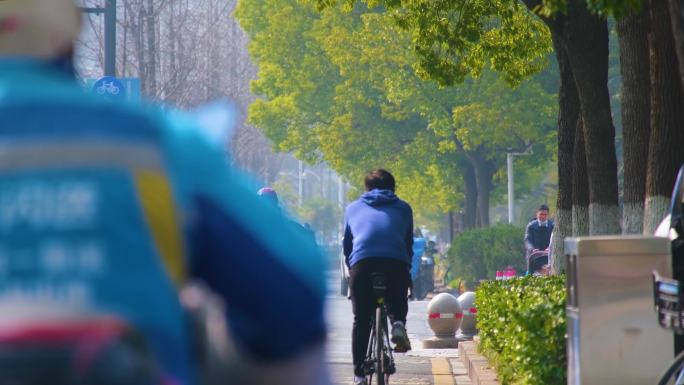
[[[646,162],[650,123],[648,54],[649,11],[646,4],[635,15],[617,23],[622,73],[622,132],[624,140],[623,234],[641,234],[644,223]]]

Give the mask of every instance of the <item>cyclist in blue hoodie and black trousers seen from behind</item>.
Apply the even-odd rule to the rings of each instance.
[[[354,383],[364,384],[363,360],[370,337],[375,298],[371,275],[387,277],[386,304],[392,321],[395,351],[411,349],[406,334],[409,270],[413,254],[413,211],[395,193],[392,174],[383,169],[369,172],[366,192],[345,210],[344,255],[349,267],[354,326],[352,354]]]

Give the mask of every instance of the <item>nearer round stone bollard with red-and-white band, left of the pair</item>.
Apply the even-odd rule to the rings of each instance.
[[[458,299],[448,293],[437,294],[428,303],[428,325],[435,336],[423,340],[425,349],[457,348],[456,330],[463,318]]]

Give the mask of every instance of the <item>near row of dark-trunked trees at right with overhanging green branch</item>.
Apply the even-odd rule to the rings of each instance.
[[[318,0],[321,8],[334,0]],[[483,66],[509,82],[537,70],[532,41],[550,33],[560,71],[556,253],[563,237],[652,232],[684,161],[684,5],[678,0],[384,0],[412,36],[425,77],[453,85]],[[347,7],[356,1],[347,0]],[[608,23],[618,23],[624,126],[624,210],[618,206],[615,128],[608,93]],[[530,31],[538,32],[537,34]],[[496,38],[492,38],[495,36]],[[504,57],[502,59],[502,51]],[[479,60],[472,60],[475,56]],[[518,60],[520,59],[520,60]],[[511,63],[521,62],[522,68]],[[524,69],[527,68],[527,69]],[[588,208],[588,209],[585,209]],[[586,226],[585,224],[588,224]],[[558,255],[557,255],[558,257]],[[555,258],[561,261],[561,258]],[[558,268],[558,266],[556,266]]]

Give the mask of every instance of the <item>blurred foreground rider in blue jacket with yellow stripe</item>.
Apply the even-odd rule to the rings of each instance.
[[[177,289],[196,278],[264,382],[326,384],[315,245],[189,120],[84,94],[79,29],[72,0],[0,1],[0,303],[124,319],[167,383],[194,384]]]

